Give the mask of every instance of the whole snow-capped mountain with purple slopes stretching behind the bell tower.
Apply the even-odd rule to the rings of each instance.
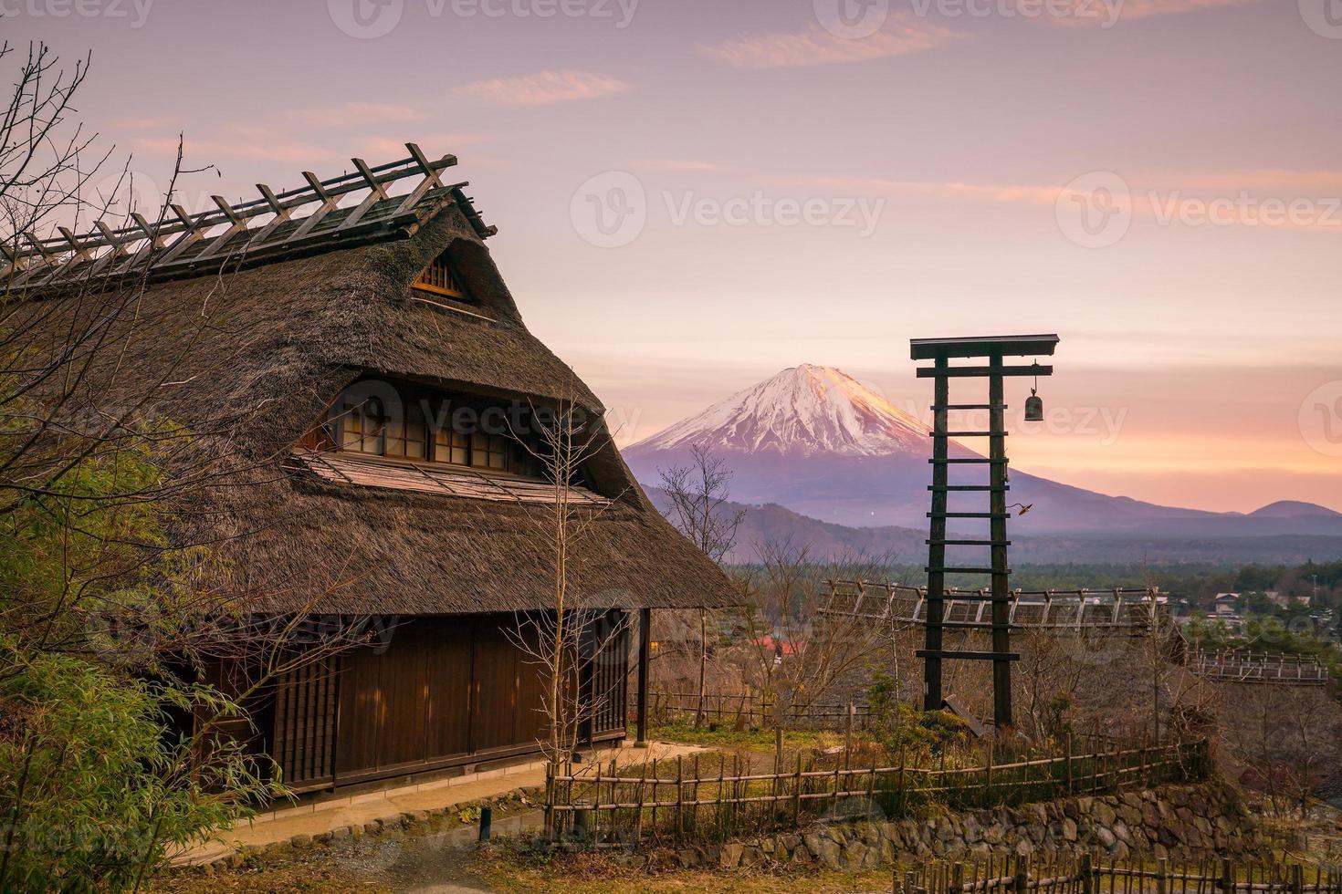
[[[926,528],[931,440],[926,426],[843,370],[804,363],[782,370],[702,413],[627,448],[646,485],[659,469],[690,464],[690,446],[713,449],[733,469],[733,497],[778,504],[845,527]],[[951,442],[953,457],[977,456]],[[980,466],[953,466],[951,484],[982,483]],[[954,495],[982,508],[982,495]],[[1013,533],[1125,537],[1342,536],[1342,513],[1299,501],[1256,512],[1206,512],[1107,496],[1011,473],[1011,503],[1029,515]],[[953,508],[956,504],[953,504]],[[976,532],[976,523],[956,529]]]

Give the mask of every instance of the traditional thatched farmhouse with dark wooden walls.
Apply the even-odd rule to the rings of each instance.
[[[207,488],[203,503],[197,489],[188,517],[229,588],[251,594],[248,613],[365,618],[378,631],[258,705],[256,747],[298,791],[537,753],[542,678],[510,631],[515,613],[553,610],[556,551],[537,519],[561,489],[529,421],[572,399],[601,425],[596,395],[522,323],[484,247],[494,228],[464,184],[440,181],[455,159],[409,149],[378,168],[356,159],[344,177],[305,174],[301,189],[260,186],[251,202],[216,197],[217,212],[34,240],[5,271],[28,296],[16,326],[59,338],[81,314],[106,318],[118,350],[87,373],[97,399],[140,402],[243,469],[246,484]],[[407,177],[419,185],[393,194]],[[133,312],[107,298],[122,294]],[[603,705],[584,736],[617,740],[631,610],[731,592],[608,440],[564,499],[592,509],[569,555],[572,599],[600,606],[595,627],[619,634],[581,681]],[[211,676],[238,670],[221,658]]]

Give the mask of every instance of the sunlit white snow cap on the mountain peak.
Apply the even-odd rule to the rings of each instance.
[[[702,444],[746,453],[926,453],[927,429],[843,370],[803,363],[629,448]]]

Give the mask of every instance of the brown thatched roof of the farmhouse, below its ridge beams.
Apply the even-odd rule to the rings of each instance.
[[[193,492],[188,517],[195,536],[219,539],[235,584],[266,594],[264,609],[305,606],[314,594],[315,610],[350,614],[548,607],[548,507],[352,487],[286,462],[369,373],[601,411],[522,323],[483,244],[493,231],[459,188],[431,189],[413,210],[353,243],[333,237],[327,251],[309,243],[295,255],[232,255],[192,275],[150,276],[142,290],[122,281],[32,294],[0,326],[34,332],[36,354],[51,359],[71,319],[97,320],[105,344],[68,358],[93,361],[83,409],[148,394],[142,416],[187,426],[201,450],[244,469]],[[479,302],[474,314],[424,303],[411,288],[444,249]],[[613,445],[588,477],[605,500],[569,556],[574,596],[624,607],[733,600],[727,579],[658,513]]]

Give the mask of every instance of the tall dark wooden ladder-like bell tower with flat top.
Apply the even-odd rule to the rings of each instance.
[[[918,369],[918,378],[934,381],[933,399],[933,454],[931,464],[931,511],[927,537],[927,609],[925,647],[918,650],[923,659],[923,710],[939,710],[945,702],[942,692],[941,662],[946,659],[990,661],[993,662],[993,720],[998,729],[1012,725],[1011,705],[1011,662],[1020,658],[1011,651],[1011,568],[1007,562],[1007,403],[1004,379],[1021,375],[1051,375],[1052,366],[1008,366],[1008,357],[1052,355],[1057,346],[1056,335],[1001,335],[974,338],[927,338],[910,342],[910,357],[914,361],[931,361],[931,366]],[[980,361],[974,365],[953,366],[951,361]],[[951,379],[988,379],[986,403],[951,403]],[[951,410],[988,413],[988,428],[984,430],[958,430],[949,428]],[[988,438],[988,456],[950,457],[951,438]],[[986,484],[950,484],[951,465],[986,465]],[[949,496],[953,492],[976,492],[988,495],[988,511],[951,511]],[[951,537],[947,521],[951,519],[985,519],[989,535],[982,537]],[[989,564],[947,566],[946,547],[988,547]],[[992,587],[986,596],[961,596],[989,602],[992,619],[947,621],[945,618],[945,595],[947,574],[990,575]],[[943,631],[946,629],[989,630],[992,649],[988,651],[946,650]]]

